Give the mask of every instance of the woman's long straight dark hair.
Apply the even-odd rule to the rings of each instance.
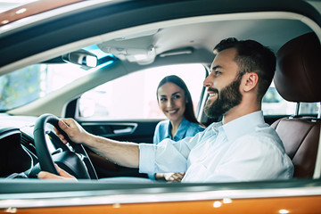
[[[201,124],[199,121],[197,121],[197,119],[195,117],[195,113],[193,111],[193,102],[192,102],[191,93],[189,92],[189,90],[188,90],[185,82],[183,81],[183,79],[178,78],[176,75],[170,75],[170,76],[167,76],[167,77],[161,79],[161,82],[160,82],[159,86],[157,86],[157,90],[156,90],[157,100],[158,100],[158,90],[159,90],[159,88],[162,85],[164,85],[165,83],[168,83],[168,82],[179,86],[185,92],[185,97],[187,97],[187,103],[185,104],[185,112],[184,112],[185,119],[187,119],[190,122]]]

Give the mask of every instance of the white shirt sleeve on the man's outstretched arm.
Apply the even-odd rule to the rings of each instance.
[[[139,144],[139,172],[182,172],[187,169],[187,158],[202,133],[180,141],[164,139],[160,144]]]

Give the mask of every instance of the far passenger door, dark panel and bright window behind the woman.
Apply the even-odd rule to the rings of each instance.
[[[114,140],[152,144],[158,122],[166,119],[159,108],[156,90],[162,78],[175,74],[182,78],[193,99],[198,114],[207,70],[202,64],[161,66],[139,70],[113,79],[87,91],[67,105],[66,117],[74,118],[89,133]],[[134,176],[137,169],[128,169],[106,162],[89,152],[98,177]]]

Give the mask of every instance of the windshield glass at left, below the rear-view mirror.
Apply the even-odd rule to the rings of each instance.
[[[92,70],[94,71],[94,70]],[[37,100],[91,72],[79,66],[34,64],[0,77],[0,111]]]

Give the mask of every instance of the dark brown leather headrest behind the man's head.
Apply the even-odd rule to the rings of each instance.
[[[280,48],[274,82],[287,101],[321,101],[321,46],[315,33],[293,38]]]

